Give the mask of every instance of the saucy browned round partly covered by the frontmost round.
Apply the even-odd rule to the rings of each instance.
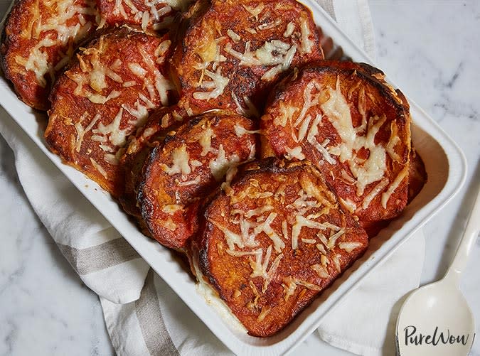
[[[138,204],[152,237],[183,250],[198,228],[202,200],[220,185],[229,167],[255,156],[255,135],[247,132],[252,128],[238,114],[210,112],[171,132],[149,153]]]

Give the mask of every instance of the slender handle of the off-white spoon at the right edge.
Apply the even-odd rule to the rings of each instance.
[[[457,283],[459,282],[460,274],[466,266],[466,262],[469,259],[469,255],[472,247],[476,241],[480,232],[480,189],[476,195],[474,207],[470,212],[470,217],[466,223],[466,228],[462,239],[460,240],[459,246],[457,247],[457,252],[455,253],[454,260],[450,265],[447,274],[445,274],[444,279],[450,279],[453,277]]]

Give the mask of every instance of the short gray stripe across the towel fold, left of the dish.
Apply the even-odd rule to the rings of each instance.
[[[58,247],[80,276],[140,257],[123,237],[86,249],[75,249],[66,244],[58,244]]]

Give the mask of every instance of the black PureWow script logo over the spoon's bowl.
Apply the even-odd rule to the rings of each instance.
[[[467,342],[469,342],[470,337],[475,338],[475,334],[455,335],[450,333],[449,329],[439,330],[438,326],[436,326],[432,331],[433,333],[430,334],[417,333],[417,328],[415,325],[408,325],[403,329],[403,342],[405,342],[404,345],[466,345]],[[471,343],[473,343],[473,340],[471,340]]]

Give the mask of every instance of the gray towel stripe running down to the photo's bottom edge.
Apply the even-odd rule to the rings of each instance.
[[[164,319],[161,316],[159,298],[156,295],[154,285],[153,269],[150,269],[146,275],[145,285],[140,298],[135,301],[135,311],[146,348],[151,356],[180,355],[170,338],[168,330],[166,330]]]

